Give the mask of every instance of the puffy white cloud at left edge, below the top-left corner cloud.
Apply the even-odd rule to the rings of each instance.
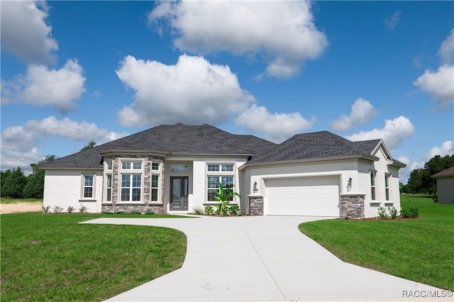
[[[50,105],[61,113],[68,113],[74,110],[74,101],[80,99],[85,91],[86,79],[82,73],[77,60],[68,60],[60,69],[29,65],[25,75],[18,75],[11,82],[2,82],[1,94],[6,96],[6,103],[14,100],[33,106]]]

